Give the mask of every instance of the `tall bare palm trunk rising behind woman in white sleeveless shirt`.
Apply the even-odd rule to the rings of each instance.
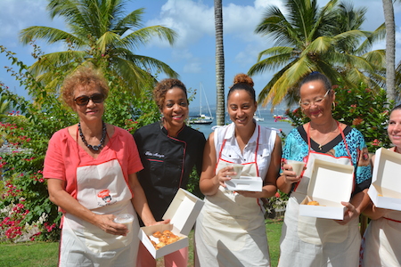
[[[217,125],[225,125],[225,51],[222,1],[215,0]]]

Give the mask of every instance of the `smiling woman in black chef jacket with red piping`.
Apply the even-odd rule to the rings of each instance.
[[[179,188],[186,188],[193,166],[201,174],[205,136],[185,125],[188,97],[177,79],[164,79],[153,90],[161,121],[145,125],[134,134],[143,170],[138,173],[151,212],[159,221]],[[187,266],[188,248],[164,257],[165,266]],[[156,266],[141,244],[136,266]]]

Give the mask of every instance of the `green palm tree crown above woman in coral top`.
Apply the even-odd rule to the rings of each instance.
[[[50,16],[62,17],[70,32],[32,26],[20,31],[20,41],[29,44],[32,40],[44,39],[48,44],[62,42],[69,48],[40,56],[30,67],[32,74],[48,88],[57,88],[66,74],[91,63],[108,71],[110,77],[135,93],[147,80],[154,79],[151,75],[154,71],[178,77],[162,61],[135,54],[153,36],[173,44],[175,31],[162,26],[141,28],[143,9],[125,15],[126,3],[127,0],[49,0]]]

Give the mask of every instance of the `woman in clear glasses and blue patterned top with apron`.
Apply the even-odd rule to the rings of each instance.
[[[314,72],[299,86],[300,108],[310,119],[288,134],[282,160],[305,162],[303,174],[282,166],[277,187],[290,198],[282,225],[279,266],[357,266],[361,236],[358,217],[368,199],[371,166],[363,135],[336,121],[331,114],[335,93],[323,74]],[[341,221],[299,215],[315,159],[355,167],[354,190]],[[335,183],[335,177],[332,180]],[[330,185],[328,185],[330,186]]]

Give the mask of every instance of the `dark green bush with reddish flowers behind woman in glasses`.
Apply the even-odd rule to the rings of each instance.
[[[387,121],[394,103],[387,101],[386,91],[373,91],[364,84],[351,89],[344,85],[333,85],[332,89],[336,93],[332,116],[346,125],[356,127],[364,135],[369,152],[374,153],[379,147],[389,147]],[[291,118],[294,127],[309,120],[299,108],[287,109],[286,115]]]

